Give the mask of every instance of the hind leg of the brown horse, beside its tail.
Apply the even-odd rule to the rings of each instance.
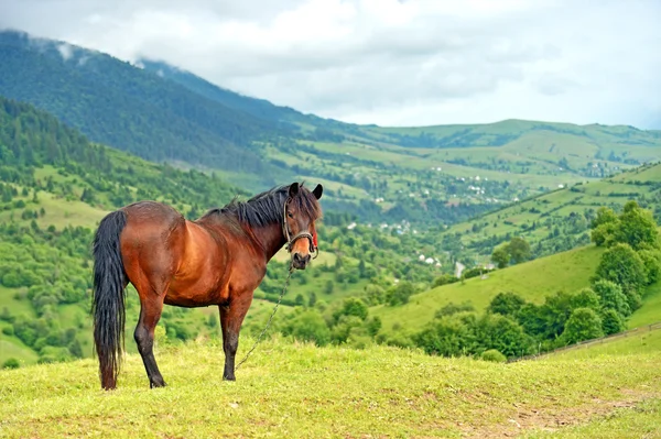
[[[165,290],[166,288],[163,289],[163,294],[156,295],[149,288],[147,295],[140,295],[140,319],[136,326],[136,332],[133,332],[147,376],[149,376],[149,385],[152,388],[165,386],[165,381],[159,371],[153,351],[154,330],[163,311]]]

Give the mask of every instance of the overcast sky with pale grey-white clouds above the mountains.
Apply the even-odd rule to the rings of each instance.
[[[660,0],[0,0],[0,28],[381,125],[661,129]]]

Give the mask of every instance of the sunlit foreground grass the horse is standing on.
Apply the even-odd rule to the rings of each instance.
[[[502,437],[561,425],[589,433],[625,404],[648,407],[633,414],[640,432],[658,419],[661,392],[659,352],[496,364],[267,341],[234,383],[219,380],[217,345],[159,349],[156,359],[165,388],[149,389],[137,355],[110,393],[91,360],[2,371],[0,436]]]

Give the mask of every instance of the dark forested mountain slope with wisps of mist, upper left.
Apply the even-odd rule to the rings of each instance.
[[[96,142],[156,162],[271,171],[256,142],[281,135],[278,123],[64,42],[2,32],[0,57],[1,95],[46,110]]]

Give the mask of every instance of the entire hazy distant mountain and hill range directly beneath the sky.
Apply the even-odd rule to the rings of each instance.
[[[52,112],[91,141],[217,169],[250,191],[321,180],[327,206],[361,223],[452,224],[659,160],[661,151],[661,133],[631,127],[349,124],[240,96],[163,63],[131,65],[15,32],[0,34],[0,94]]]

